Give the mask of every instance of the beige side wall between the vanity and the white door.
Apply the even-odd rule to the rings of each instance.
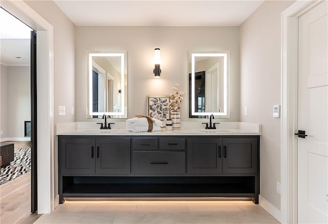
[[[292,1],[266,1],[240,26],[240,120],[262,124],[261,196],[278,210],[280,195],[280,13]],[[248,106],[248,116],[243,115]]]

